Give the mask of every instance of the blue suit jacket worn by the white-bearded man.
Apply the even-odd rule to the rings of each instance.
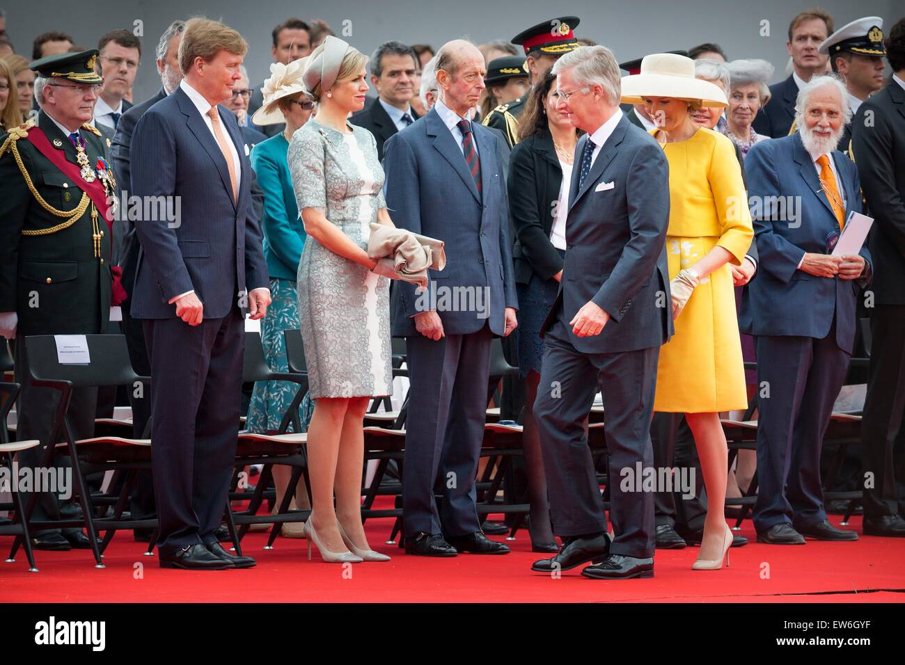
[[[835,150],[833,161],[845,190],[847,218],[862,210],[861,183],[852,160]],[[857,288],[864,282],[797,270],[805,252],[828,253],[827,237],[839,232],[801,137],[796,132],[752,147],[745,157],[745,175],[760,262],[757,280],[742,294],[739,327],[749,335],[823,338],[835,316],[836,344],[851,353]],[[790,211],[788,204],[800,208]],[[860,253],[870,266],[867,248]]]

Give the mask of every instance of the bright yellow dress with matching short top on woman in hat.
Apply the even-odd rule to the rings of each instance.
[[[732,142],[700,128],[691,138],[662,147],[670,164],[670,279],[714,245],[728,250],[731,262],[740,265],[754,231]],[[742,362],[732,271],[726,264],[700,280],[675,320],[675,335],[661,347],[653,410],[744,409],[748,395]]]

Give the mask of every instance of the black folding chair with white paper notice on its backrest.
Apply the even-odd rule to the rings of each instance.
[[[135,473],[150,469],[150,441],[118,436],[91,437],[76,441],[72,435],[67,416],[72,389],[76,387],[96,387],[100,385],[122,385],[129,389],[147,390],[148,377],[138,376],[129,362],[126,338],[122,335],[86,335],[90,362],[85,365],[61,363],[57,355],[55,337],[41,335],[25,337],[25,353],[32,374],[33,385],[60,391],[60,403],[53,415],[51,434],[43,453],[42,466],[49,468],[54,452],[68,454],[72,475],[76,481],[76,491],[81,504],[81,519],[46,520],[31,522],[32,527],[61,528],[85,527],[88,531],[95,567],[105,567],[101,554],[110,543],[117,529],[156,528],[157,519],[124,519],[122,513],[129,500]],[[57,443],[61,441],[62,442]],[[126,470],[128,480],[123,483],[119,494],[91,496],[86,476],[89,473],[107,470]],[[37,493],[33,493],[25,507],[30,515]],[[96,513],[100,507],[113,506],[112,518],[101,518]],[[97,534],[104,531],[104,538],[97,542]],[[22,542],[16,537],[10,554],[12,558]]]

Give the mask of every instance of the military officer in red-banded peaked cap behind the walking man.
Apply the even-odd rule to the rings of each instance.
[[[512,43],[525,49],[525,67],[532,86],[535,81],[543,79],[560,55],[575,51],[581,46],[572,32],[578,21],[577,16],[560,16],[539,23],[512,38]],[[527,100],[526,92],[516,100],[500,104],[484,117],[482,124],[484,127],[499,129],[510,147],[514,146],[519,142],[519,115]]]

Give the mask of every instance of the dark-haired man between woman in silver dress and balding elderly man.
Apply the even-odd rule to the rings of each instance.
[[[353,113],[351,122],[374,135],[377,157],[382,160],[386,140],[421,117],[411,104],[418,93],[414,89],[418,56],[404,43],[385,42],[377,46],[370,64],[377,99]]]

